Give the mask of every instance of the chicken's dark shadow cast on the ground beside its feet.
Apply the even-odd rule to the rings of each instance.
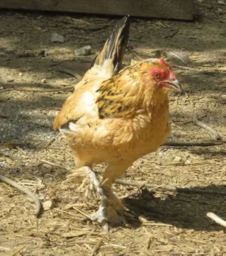
[[[213,212],[222,218],[226,217],[226,187],[210,185],[195,188],[202,189],[203,193],[186,193],[180,188],[175,195],[167,193],[164,198],[157,198],[154,197],[154,192],[144,189],[140,195],[124,199],[124,203],[129,210],[148,221],[159,221],[178,228],[200,231],[224,230],[222,226],[207,218],[206,214]],[[213,194],[205,194],[205,190],[211,190]],[[225,195],[218,195],[218,192]],[[153,203],[155,207],[150,206]],[[131,225],[140,224],[135,222]]]

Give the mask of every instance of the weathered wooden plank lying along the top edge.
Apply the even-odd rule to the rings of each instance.
[[[193,0],[0,0],[0,8],[192,20]]]

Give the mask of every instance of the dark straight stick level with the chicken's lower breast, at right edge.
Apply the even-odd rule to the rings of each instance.
[[[162,146],[171,147],[209,147],[224,144],[225,141],[167,141]]]

